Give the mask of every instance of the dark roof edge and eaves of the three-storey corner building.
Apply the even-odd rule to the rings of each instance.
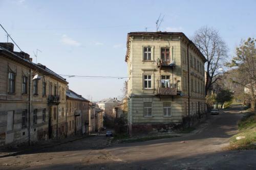
[[[198,49],[198,47],[194,44],[193,41],[191,41],[189,38],[187,38],[187,36],[182,33],[182,32],[130,32],[127,34],[127,42],[126,42],[126,46],[127,46],[127,50],[126,50],[126,55],[125,55],[125,62],[127,61],[127,58],[129,58],[129,54],[130,54],[130,48],[129,48],[129,43],[130,43],[130,37],[131,36],[138,36],[138,35],[151,35],[151,36],[180,36],[180,37],[184,37],[189,44],[191,44],[197,51],[197,53],[203,58],[204,62],[206,62],[206,58],[204,57],[204,55],[201,53],[201,51]]]

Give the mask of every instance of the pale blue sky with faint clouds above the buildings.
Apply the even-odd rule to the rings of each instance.
[[[256,1],[33,1],[0,0],[0,23],[19,47],[60,75],[126,77],[129,32],[219,30],[230,57],[241,39],[256,38]],[[0,42],[6,42],[0,29]],[[18,51],[18,48],[15,47]],[[66,77],[65,77],[66,78]],[[93,101],[122,95],[124,79],[67,78],[69,87]]]

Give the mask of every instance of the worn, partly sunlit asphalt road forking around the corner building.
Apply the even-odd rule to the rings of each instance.
[[[104,135],[0,158],[0,169],[256,169],[256,151],[225,151],[239,106],[211,116],[197,134],[108,147]]]

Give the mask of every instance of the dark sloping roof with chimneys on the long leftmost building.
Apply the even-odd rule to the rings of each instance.
[[[18,55],[18,54],[26,54],[24,52],[20,52],[20,53],[12,52],[12,51],[9,51],[6,48],[0,46],[0,54],[3,54],[5,57],[7,57],[13,61],[22,63],[31,69],[37,70],[38,72],[40,72],[40,74],[43,74],[44,76],[50,76],[55,79],[58,79],[59,81],[65,83],[65,84],[68,84],[66,79],[64,79],[61,76],[59,76],[58,74],[56,74],[54,71],[52,71],[45,65],[33,63],[32,61]],[[28,54],[26,54],[26,55],[28,55]]]

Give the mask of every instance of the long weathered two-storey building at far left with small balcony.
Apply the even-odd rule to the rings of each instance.
[[[0,145],[65,136],[68,82],[13,47],[0,43]]]

